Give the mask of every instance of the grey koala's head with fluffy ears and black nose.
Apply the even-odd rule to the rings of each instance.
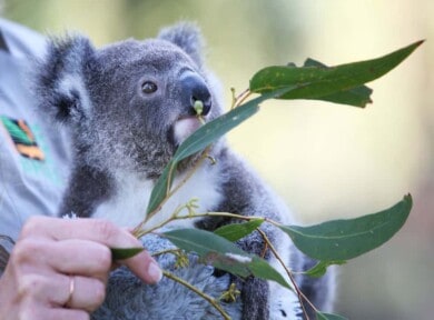
[[[196,100],[206,121],[221,113],[200,51],[187,23],[98,50],[81,36],[52,41],[38,70],[40,104],[69,126],[80,164],[154,179],[200,127]]]

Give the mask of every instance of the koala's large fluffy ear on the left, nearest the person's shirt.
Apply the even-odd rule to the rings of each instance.
[[[60,122],[79,121],[89,113],[86,70],[95,49],[82,36],[51,39],[36,70],[40,108]]]

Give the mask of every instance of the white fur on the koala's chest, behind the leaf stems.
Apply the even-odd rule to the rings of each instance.
[[[197,212],[207,212],[221,201],[219,190],[220,172],[218,166],[205,162],[194,176],[162,206],[146,224],[146,229],[167,220],[175,210],[191,199],[198,199]],[[184,177],[177,177],[176,187]],[[120,227],[134,228],[145,219],[146,208],[149,202],[154,182],[139,180],[131,173],[118,174],[116,194],[101,203],[92,214],[92,218],[102,218],[112,221]],[[170,226],[193,227],[194,219],[177,220]]]

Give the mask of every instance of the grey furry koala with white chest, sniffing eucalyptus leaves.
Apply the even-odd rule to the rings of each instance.
[[[37,70],[37,96],[40,108],[69,128],[73,153],[59,214],[73,212],[126,227],[144,219],[150,192],[165,166],[179,144],[201,126],[195,101],[203,102],[206,122],[224,112],[220,86],[206,69],[201,51],[200,31],[186,22],[161,30],[155,39],[126,40],[100,49],[78,34],[49,43]],[[198,212],[293,221],[286,206],[224,138],[208,153],[215,163],[200,162],[149,221],[150,226],[193,198],[199,199]],[[194,154],[180,163],[174,184],[199,158]],[[229,218],[185,219],[172,227],[215,230],[236,222]],[[264,223],[260,229],[293,270],[315,263],[276,228]],[[258,232],[237,244],[263,256],[285,274]],[[241,319],[302,319],[300,309],[294,311],[296,301],[288,298],[294,294],[278,284],[253,277],[233,278],[241,288]],[[319,280],[299,277],[297,281],[318,309],[331,309],[333,274]],[[306,310],[314,318],[307,303]]]

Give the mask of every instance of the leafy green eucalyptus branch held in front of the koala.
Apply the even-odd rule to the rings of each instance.
[[[346,261],[348,259],[353,259],[357,256],[361,256],[369,250],[373,250],[377,248],[379,244],[384,243],[389,239],[391,236],[396,233],[403,223],[405,222],[410,210],[412,208],[412,198],[411,196],[404,197],[404,199],[395,204],[394,207],[384,210],[382,212],[377,212],[375,214],[368,214],[362,218],[353,219],[353,220],[336,220],[331,221],[331,224],[327,224],[324,227],[324,224],[317,224],[313,227],[308,227],[309,232],[302,232],[305,231],[306,227],[299,227],[299,226],[283,226],[282,223],[274,221],[268,218],[263,217],[245,217],[240,214],[235,213],[228,213],[228,212],[207,212],[207,213],[196,213],[195,209],[195,200],[190,200],[188,203],[184,206],[179,206],[169,217],[166,221],[160,222],[156,227],[148,227],[148,230],[144,230],[144,227],[147,221],[150,220],[158,211],[161,210],[162,206],[168,201],[168,199],[177,192],[187,181],[191,178],[191,176],[198,170],[201,162],[208,157],[209,148],[206,148],[204,151],[200,151],[204,149],[204,146],[209,146],[213,143],[213,141],[216,141],[216,139],[220,138],[223,134],[251,117],[257,112],[258,104],[262,101],[265,101],[267,99],[283,99],[283,100],[289,100],[289,99],[316,99],[316,100],[325,100],[328,102],[335,102],[341,104],[349,104],[353,107],[365,107],[367,103],[372,102],[371,100],[371,93],[372,90],[364,86],[364,83],[369,82],[372,80],[375,80],[393,68],[395,68],[397,64],[400,64],[406,57],[408,57],[423,41],[417,41],[411,46],[407,46],[405,48],[402,48],[395,52],[392,52],[387,56],[372,59],[372,60],[365,60],[362,62],[355,62],[355,63],[346,63],[341,66],[335,66],[333,68],[323,66],[323,63],[318,61],[314,61],[312,59],[307,60],[306,63],[302,67],[296,66],[273,66],[268,68],[264,68],[263,70],[258,71],[254,74],[254,77],[249,81],[249,88],[245,91],[243,91],[240,94],[235,94],[235,89],[231,89],[231,114],[236,114],[236,117],[225,117],[220,119],[216,119],[218,121],[210,122],[208,128],[203,128],[207,130],[203,130],[204,132],[200,132],[203,136],[200,136],[200,140],[186,140],[188,143],[184,144],[184,147],[188,150],[188,148],[193,148],[190,150],[194,150],[195,152],[203,152],[200,154],[200,158],[194,166],[187,170],[185,177],[175,187],[171,188],[172,178],[177,173],[176,168],[177,163],[179,161],[183,161],[188,156],[185,153],[186,157],[178,157],[174,159],[169,166],[171,166],[168,169],[165,169],[164,173],[166,177],[164,177],[166,180],[160,181],[160,184],[157,184],[158,188],[166,188],[166,190],[157,189],[156,191],[156,198],[151,199],[154,201],[150,201],[151,204],[151,212],[147,214],[147,217],[144,219],[144,221],[135,229],[134,234],[136,237],[142,237],[149,232],[156,232],[157,229],[180,219],[193,219],[193,218],[207,218],[207,217],[226,217],[228,219],[239,220],[239,221],[253,221],[254,223],[244,223],[249,224],[248,231],[254,230],[257,228],[254,220],[259,220],[257,222],[268,222],[277,228],[280,228],[284,230],[289,237],[292,237],[292,240],[294,244],[298,248],[303,244],[303,252],[305,252],[307,256],[316,257],[319,261]],[[307,78],[306,78],[307,77]],[[325,81],[326,80],[326,81]],[[356,92],[355,92],[356,91]],[[253,99],[247,103],[244,103],[251,93],[258,93],[260,97],[257,99]],[[336,94],[339,93],[339,94]],[[341,94],[344,93],[344,94]],[[251,103],[250,103],[251,102]],[[201,121],[201,112],[204,110],[204,103],[203,101],[197,100],[195,102],[195,110],[196,114]],[[239,108],[237,108],[239,107]],[[244,108],[245,107],[245,108]],[[227,126],[227,127],[225,127]],[[221,129],[223,128],[223,129]],[[200,130],[200,129],[199,129]],[[199,134],[198,134],[199,136]],[[197,143],[197,142],[200,143]],[[183,147],[183,144],[180,146]],[[199,148],[200,147],[200,148]],[[183,149],[183,150],[186,150]],[[180,150],[180,149],[179,149]],[[190,153],[188,153],[190,154]],[[166,171],[168,170],[168,171]],[[167,184],[166,184],[167,183]],[[164,187],[162,187],[164,186]],[[188,210],[188,214],[181,214],[184,210]],[[168,212],[170,213],[170,212]],[[395,213],[395,214],[391,214]],[[394,217],[392,220],[391,217]],[[376,221],[379,221],[378,223]],[[394,223],[386,223],[386,222],[393,221]],[[260,224],[258,223],[258,224]],[[356,224],[356,227],[354,226]],[[254,226],[251,229],[250,227]],[[333,228],[331,227],[333,226]],[[245,227],[245,226],[244,226]],[[229,228],[234,229],[234,228]],[[332,232],[331,232],[331,229]],[[188,232],[186,232],[186,230]],[[228,230],[228,229],[226,229]],[[290,271],[286,266],[285,262],[279,257],[278,252],[274,248],[273,243],[269,241],[267,236],[258,229],[258,232],[262,234],[264,242],[265,242],[265,250],[270,249],[273,254],[276,257],[276,259],[282,263],[283,268],[285,269],[286,273],[288,274],[290,282],[294,286],[294,291],[296,292],[298,297],[298,301],[302,304],[303,312],[306,319],[308,319],[308,316],[305,310],[305,304],[308,303],[313,310],[316,311],[316,313],[323,314],[320,311],[318,311],[315,306],[306,298],[306,296],[300,291],[298,288],[294,274],[295,272]],[[302,231],[300,231],[302,230]],[[339,242],[336,243],[335,241],[335,234],[334,230],[339,230]],[[359,230],[364,230],[365,232],[361,232]],[[181,232],[180,232],[181,231]],[[184,233],[183,233],[184,231]],[[214,253],[214,249],[218,246],[213,246],[214,243],[210,243],[207,246],[208,248],[203,248],[201,246],[195,246],[197,244],[195,241],[180,241],[185,239],[177,238],[178,236],[186,236],[191,237],[194,232],[190,232],[191,230],[185,229],[185,230],[178,230],[178,233],[176,231],[169,231],[166,232],[167,238],[168,233],[171,232],[171,240],[172,242],[177,242],[179,248],[184,248],[184,250],[195,251],[194,249],[200,249],[203,250],[203,254],[206,254],[209,249]],[[220,229],[221,231],[221,229]],[[371,231],[371,232],[369,232]],[[383,232],[384,231],[384,232]],[[372,237],[375,232],[375,239]],[[174,236],[175,234],[175,236]],[[200,234],[200,237],[199,237]],[[241,233],[241,236],[244,232]],[[293,236],[297,237],[293,237]],[[323,239],[320,243],[317,243],[317,241],[310,241],[314,234],[316,238]],[[384,236],[383,236],[384,234]],[[195,237],[191,237],[191,239],[197,240],[200,244],[201,242],[206,242],[205,240],[208,240],[208,238],[217,237],[215,234],[208,234],[205,231],[203,232],[196,232],[194,234]],[[186,238],[187,238],[186,237]],[[245,236],[244,236],[245,237]],[[345,240],[352,239],[351,242],[347,242]],[[358,243],[361,243],[361,248],[357,248],[357,251],[353,250],[352,243],[356,238]],[[215,240],[223,240],[219,238],[214,238]],[[369,241],[366,241],[369,240]],[[374,239],[375,241],[371,241]],[[169,239],[170,240],[170,239]],[[302,241],[305,240],[305,241]],[[217,242],[217,241],[216,241]],[[227,258],[227,253],[230,254],[231,251],[236,251],[234,248],[239,249],[235,247],[234,243],[230,241],[227,241],[228,243],[225,243],[223,246],[224,248],[218,248],[219,254],[224,254],[224,257]],[[307,243],[306,243],[307,242]],[[179,244],[180,243],[180,244]],[[365,244],[366,243],[366,244]],[[175,244],[175,243],[174,243]],[[335,246],[336,244],[336,246]],[[320,247],[320,250],[318,250],[318,246]],[[336,248],[339,247],[339,248]],[[185,249],[187,248],[187,249]],[[191,249],[193,248],[193,249]],[[226,248],[229,248],[229,250],[226,251]],[[176,251],[161,251],[162,253],[175,253]],[[158,254],[162,254],[159,252]],[[205,253],[204,253],[205,252]],[[236,251],[239,252],[239,251]],[[310,254],[309,254],[310,252]],[[318,258],[317,252],[320,252],[320,257]],[[176,253],[175,253],[176,254]],[[237,256],[237,254],[236,254]],[[244,257],[241,257],[241,260],[244,261]],[[236,259],[235,259],[236,260]],[[226,260],[224,260],[226,261]],[[237,261],[235,261],[237,262]],[[238,261],[239,262],[239,261]],[[253,261],[254,262],[254,261]],[[250,263],[253,263],[250,262]],[[267,264],[268,266],[268,264]],[[229,268],[230,270],[230,268]],[[262,270],[264,271],[264,270]],[[235,270],[237,272],[237,270]],[[263,276],[266,272],[263,272],[259,276]],[[203,297],[205,300],[207,300],[209,303],[211,303],[225,319],[230,319],[227,313],[221,309],[221,306],[219,304],[218,300],[215,300],[214,298],[207,296],[206,293],[201,292],[190,283],[186,282],[183,279],[177,278],[176,276],[164,271],[164,274],[168,277],[169,279],[172,279],[174,281],[179,282],[180,284],[185,286],[186,288],[190,289],[191,291],[196,292],[200,297]],[[264,279],[267,279],[266,277],[263,277]],[[269,280],[275,280],[273,278],[269,278]],[[282,281],[285,283],[280,283],[286,287],[286,281]],[[305,302],[306,301],[306,302]],[[326,313],[324,313],[326,314]]]

